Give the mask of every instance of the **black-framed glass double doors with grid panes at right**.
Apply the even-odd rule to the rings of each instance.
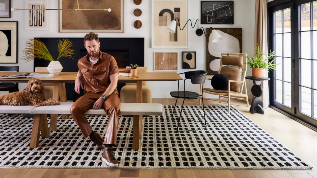
[[[317,127],[317,1],[295,0],[269,7],[270,105]]]

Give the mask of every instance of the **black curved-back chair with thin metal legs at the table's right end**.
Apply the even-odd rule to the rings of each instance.
[[[172,119],[174,117],[174,112],[175,112],[176,103],[177,103],[178,98],[183,99],[182,109],[180,110],[180,114],[178,117],[177,130],[179,127],[180,119],[182,117],[182,111],[183,111],[185,99],[199,99],[200,97],[203,98],[203,94],[200,95],[196,92],[185,91],[185,81],[187,79],[190,79],[192,84],[202,84],[203,85],[202,88],[204,88],[204,83],[206,80],[207,72],[204,70],[196,70],[196,71],[189,71],[189,72],[184,72],[184,73],[179,73],[179,74],[185,74],[184,91],[179,91],[179,81],[178,81],[178,91],[170,92],[171,97],[176,98],[176,102],[175,102],[174,110],[173,110],[173,114],[172,114]],[[202,91],[200,91],[200,92],[203,93]],[[204,100],[203,100],[203,111],[204,111],[204,123],[205,123],[203,128],[192,129],[192,130],[178,130],[178,131],[193,131],[193,130],[202,130],[202,129],[206,128],[206,116],[205,116]]]

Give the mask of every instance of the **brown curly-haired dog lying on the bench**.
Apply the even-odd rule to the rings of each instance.
[[[33,105],[36,107],[59,105],[59,102],[54,99],[48,99],[45,101],[43,90],[44,85],[42,84],[41,80],[36,78],[30,79],[25,90],[0,95],[0,105]]]

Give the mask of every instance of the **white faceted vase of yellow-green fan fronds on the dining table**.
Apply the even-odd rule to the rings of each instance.
[[[54,75],[58,75],[61,73],[63,67],[61,63],[58,61],[61,57],[68,57],[73,59],[75,54],[74,50],[71,49],[72,41],[68,39],[58,40],[57,41],[57,48],[58,48],[58,57],[56,60],[52,57],[49,53],[49,50],[46,48],[45,44],[37,39],[37,38],[29,38],[26,41],[26,48],[22,51],[23,52],[23,60],[29,62],[34,59],[44,59],[51,61],[47,67],[49,73],[53,73]],[[74,60],[74,59],[73,59]]]

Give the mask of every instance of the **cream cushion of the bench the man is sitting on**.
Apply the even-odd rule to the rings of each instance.
[[[33,109],[33,114],[70,114],[73,102],[60,102],[60,105],[39,106]],[[121,103],[121,115],[162,116],[163,107],[159,103]],[[90,109],[85,114],[105,115],[103,109]]]

